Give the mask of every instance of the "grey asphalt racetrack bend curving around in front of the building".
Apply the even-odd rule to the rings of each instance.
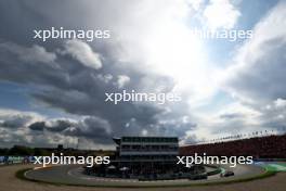
[[[119,179],[119,178],[101,178],[95,176],[84,175],[83,168],[77,165],[63,165],[38,168],[25,173],[26,178],[39,180],[43,182],[76,184],[76,186],[98,186],[98,187],[180,187],[192,186],[206,182],[221,182],[243,178],[256,177],[264,173],[264,169],[253,165],[237,165],[235,168],[222,166],[226,170],[234,171],[233,177],[223,177],[219,175],[209,176],[208,180],[157,180],[157,181],[139,181],[136,179]]]

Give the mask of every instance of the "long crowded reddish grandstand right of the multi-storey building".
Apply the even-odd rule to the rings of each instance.
[[[180,155],[194,153],[216,156],[253,156],[253,158],[286,158],[286,133],[204,144],[183,145]]]

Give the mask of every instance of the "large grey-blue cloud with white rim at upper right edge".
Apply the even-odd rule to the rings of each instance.
[[[245,100],[286,98],[286,4],[280,3],[255,27],[253,39],[236,56],[229,72],[229,87]]]

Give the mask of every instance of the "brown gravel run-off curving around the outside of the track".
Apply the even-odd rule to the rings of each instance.
[[[181,188],[96,188],[96,187],[74,187],[57,186],[51,183],[39,183],[22,180],[15,177],[15,173],[25,168],[32,168],[34,165],[11,165],[0,167],[0,191],[285,191],[286,173],[277,173],[274,176],[246,182],[230,184],[204,186],[204,187],[181,187]]]

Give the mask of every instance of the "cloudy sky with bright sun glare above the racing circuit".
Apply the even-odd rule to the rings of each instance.
[[[112,137],[182,143],[286,123],[286,2],[0,2],[0,147],[112,148]],[[109,39],[34,39],[34,29],[108,29]],[[199,30],[252,30],[203,39]],[[105,92],[176,92],[117,105]]]

